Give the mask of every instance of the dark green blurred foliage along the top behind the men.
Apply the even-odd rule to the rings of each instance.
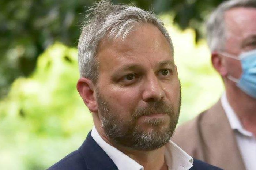
[[[84,13],[95,0],[0,1],[0,98],[19,76],[29,76],[37,57],[54,42],[76,46]],[[203,35],[202,24],[223,0],[113,0],[135,4],[157,14],[168,12],[181,29]]]

